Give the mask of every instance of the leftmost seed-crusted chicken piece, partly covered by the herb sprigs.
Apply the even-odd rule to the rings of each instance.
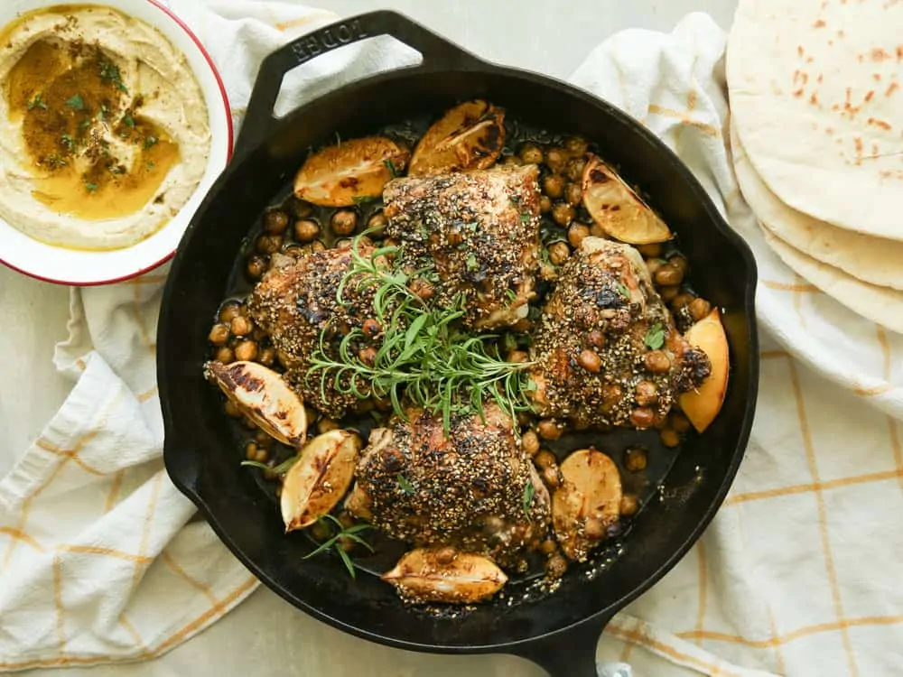
[[[360,246],[358,251],[366,256],[372,247]],[[336,392],[330,379],[324,400],[320,375],[306,376],[322,329],[330,326],[332,339],[325,348],[330,357],[337,357],[340,338],[373,315],[372,287],[357,289],[354,284],[346,284],[343,300],[349,304],[343,306],[336,300],[350,264],[350,247],[303,255],[267,272],[247,300],[248,314],[269,334],[289,383],[305,402],[334,418],[348,413],[358,399]]]

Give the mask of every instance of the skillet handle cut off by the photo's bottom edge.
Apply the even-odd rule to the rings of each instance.
[[[536,663],[549,677],[598,677],[596,646],[611,617],[593,617],[564,632],[518,645],[511,653]]]

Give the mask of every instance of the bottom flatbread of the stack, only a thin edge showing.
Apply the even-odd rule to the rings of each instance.
[[[772,235],[766,227],[762,227],[762,234],[768,246],[796,274],[866,320],[903,333],[903,292],[864,283],[838,268],[816,261]]]

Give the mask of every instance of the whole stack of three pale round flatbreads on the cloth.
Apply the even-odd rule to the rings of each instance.
[[[734,169],[768,246],[903,332],[903,0],[740,0],[727,81]]]

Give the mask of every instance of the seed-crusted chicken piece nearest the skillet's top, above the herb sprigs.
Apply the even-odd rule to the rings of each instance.
[[[404,246],[409,271],[433,269],[433,301],[463,294],[471,329],[526,317],[539,260],[539,170],[501,167],[396,179],[383,199],[386,233]]]

